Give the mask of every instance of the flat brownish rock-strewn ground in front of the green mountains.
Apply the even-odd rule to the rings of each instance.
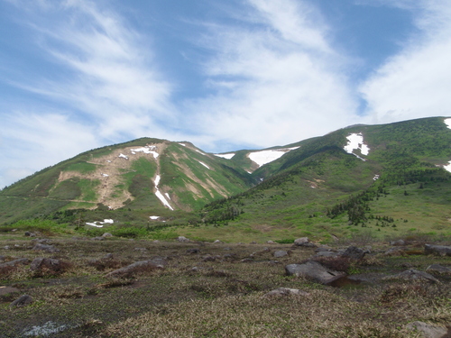
[[[47,242],[0,238],[1,337],[451,334],[451,260],[422,242]]]

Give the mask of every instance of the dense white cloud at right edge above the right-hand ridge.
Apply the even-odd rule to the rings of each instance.
[[[410,9],[419,32],[361,87],[369,123],[451,114],[451,4],[419,1]]]

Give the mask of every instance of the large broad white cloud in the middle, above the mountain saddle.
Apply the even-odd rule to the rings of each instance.
[[[327,26],[308,20],[315,8],[291,0],[250,4],[252,20],[207,26],[203,46],[214,57],[205,71],[216,94],[189,103],[200,129],[216,141],[270,146],[351,123],[345,59],[327,43]]]

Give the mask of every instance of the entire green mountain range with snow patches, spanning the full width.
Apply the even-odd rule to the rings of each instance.
[[[348,235],[356,225],[381,231],[381,224],[394,232],[428,223],[443,233],[451,219],[450,128],[446,117],[359,124],[223,154],[190,142],[138,139],[87,151],[6,187],[0,224],[49,215],[62,222],[84,208],[97,219],[143,224],[158,215],[168,224],[222,224],[279,237]]]

